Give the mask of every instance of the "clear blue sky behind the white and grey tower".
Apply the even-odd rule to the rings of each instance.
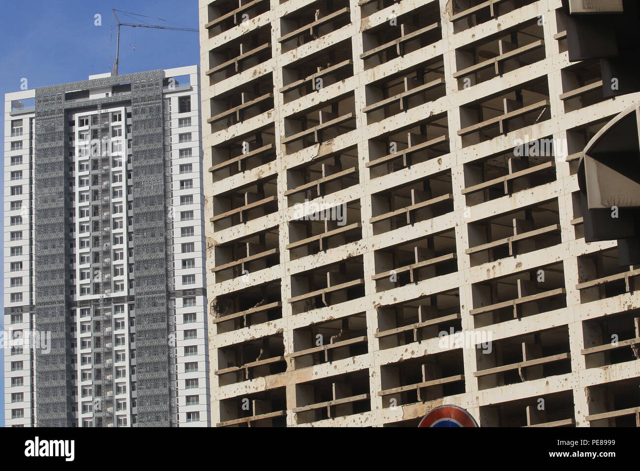
[[[109,72],[116,45],[111,8],[150,17],[118,13],[121,22],[198,28],[198,0],[20,0],[3,2],[2,8],[0,93],[3,95],[18,92],[23,78],[28,80],[29,88],[37,88]],[[96,14],[102,15],[102,26],[95,26]],[[120,74],[182,67],[199,60],[198,33],[122,27]],[[0,133],[4,133],[4,127]],[[4,162],[4,158],[0,161]],[[4,204],[0,207],[4,208]],[[4,310],[2,304],[0,297],[0,308]],[[4,426],[3,368],[4,358],[0,360],[3,390],[0,426]]]

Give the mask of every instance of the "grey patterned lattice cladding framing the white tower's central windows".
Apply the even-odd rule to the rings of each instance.
[[[131,93],[65,102],[65,93],[131,83]],[[49,354],[36,351],[38,426],[70,426],[70,324],[67,260],[67,112],[131,100],[138,425],[168,426],[169,359],[164,243],[163,71],[36,89],[35,322],[51,331]]]

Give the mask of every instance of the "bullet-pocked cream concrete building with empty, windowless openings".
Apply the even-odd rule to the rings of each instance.
[[[637,426],[561,0],[200,0],[212,426]]]

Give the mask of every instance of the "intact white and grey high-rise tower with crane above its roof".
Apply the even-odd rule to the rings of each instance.
[[[5,95],[6,426],[209,426],[199,77]]]

